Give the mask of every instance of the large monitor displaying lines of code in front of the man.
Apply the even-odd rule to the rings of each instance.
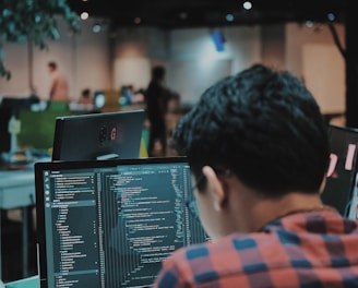
[[[175,250],[210,241],[186,157],[35,164],[41,288],[151,287]]]

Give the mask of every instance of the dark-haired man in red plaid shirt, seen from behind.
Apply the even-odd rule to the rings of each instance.
[[[256,64],[219,81],[172,141],[214,241],[176,251],[154,287],[358,287],[357,223],[321,202],[326,125],[297,77]]]

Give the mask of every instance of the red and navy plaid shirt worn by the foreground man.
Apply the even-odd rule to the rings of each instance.
[[[358,287],[358,221],[297,213],[260,232],[180,249],[154,287]]]

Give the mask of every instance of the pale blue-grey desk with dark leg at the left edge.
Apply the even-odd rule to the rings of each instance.
[[[0,170],[0,208],[22,209],[22,243],[23,243],[23,277],[28,275],[28,248],[27,248],[27,209],[35,202],[35,175],[33,166],[25,170]],[[1,225],[0,225],[1,235]],[[1,238],[0,238],[1,248]],[[0,250],[1,251],[1,250]],[[2,274],[0,253],[0,279]]]

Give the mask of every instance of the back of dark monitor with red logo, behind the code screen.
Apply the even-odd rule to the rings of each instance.
[[[57,117],[52,160],[136,158],[145,111]]]

